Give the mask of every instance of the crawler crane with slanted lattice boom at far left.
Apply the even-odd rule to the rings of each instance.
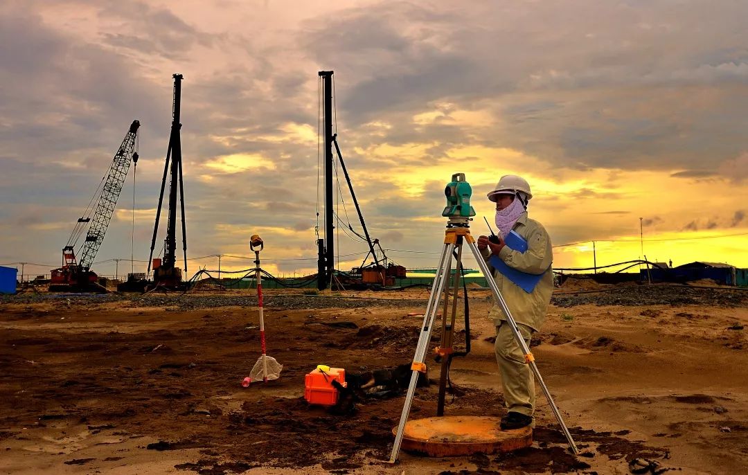
[[[127,178],[130,162],[138,163],[138,152],[136,150],[136,139],[140,122],[133,120],[130,128],[123,138],[111,166],[105,177],[102,178],[99,188],[93,194],[83,216],[78,218],[73,233],[67,240],[67,245],[62,248],[62,267],[52,269],[52,279],[49,290],[67,292],[105,292],[106,289],[98,284],[98,276],[91,271],[91,264],[96,258],[104,241],[106,229],[111,221],[111,215],[117,206],[123,183]],[[95,212],[91,218],[93,203],[96,202]],[[86,239],[79,248],[78,257],[75,253],[75,245],[80,236],[88,227]]]

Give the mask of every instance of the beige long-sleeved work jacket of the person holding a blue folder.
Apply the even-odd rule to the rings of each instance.
[[[527,217],[527,212],[519,217],[512,229],[527,241],[527,251],[521,253],[512,251],[509,246],[504,246],[499,252],[500,259],[507,266],[518,271],[542,274],[543,277],[530,293],[525,292],[496,270],[494,270],[494,281],[515,322],[540,331],[545,321],[545,313],[548,312],[548,304],[551,303],[551,294],[554,291],[554,271],[551,269],[554,251],[551,247],[551,237],[548,236],[542,224]],[[485,248],[482,255],[488,262],[488,258],[491,257],[491,248]],[[496,325],[499,325],[500,320],[506,320],[503,310],[495,302],[488,313],[488,318],[493,319]]]

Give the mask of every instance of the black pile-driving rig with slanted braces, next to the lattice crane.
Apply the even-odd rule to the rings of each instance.
[[[166,239],[164,246],[164,257],[161,266],[154,266],[153,283],[156,286],[180,287],[182,284],[182,269],[177,268],[177,189],[180,194],[182,207],[182,248],[184,252],[184,270],[187,271],[187,228],[185,222],[185,195],[182,180],[182,140],[180,137],[180,109],[182,105],[182,79],[181,74],[174,74],[174,105],[172,108],[171,135],[169,136],[169,148],[166,152],[166,164],[164,166],[164,177],[161,182],[161,194],[159,194],[159,206],[156,209],[156,225],[153,227],[153,239],[150,243],[150,258],[148,259],[148,272],[153,263],[153,248],[156,247],[156,234],[159,232],[159,217],[164,200],[164,189],[166,177],[169,175],[169,218],[166,227]],[[169,168],[171,162],[171,170]]]

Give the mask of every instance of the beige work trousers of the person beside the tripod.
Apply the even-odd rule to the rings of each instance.
[[[530,348],[530,337],[533,329],[527,325],[517,324],[527,348]],[[524,362],[524,353],[515,340],[509,323],[502,321],[496,327],[494,343],[496,362],[499,365],[501,384],[504,390],[504,401],[508,411],[532,416],[535,410],[535,379],[530,366]]]

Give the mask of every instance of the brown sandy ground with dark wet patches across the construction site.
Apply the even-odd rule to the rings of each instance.
[[[616,293],[633,290],[590,289],[603,292],[554,298],[533,340],[580,456],[565,450],[539,392],[533,447],[450,459],[401,453],[394,466],[383,461],[403,397],[331,414],[304,401],[304,375],[316,364],[358,373],[411,361],[422,317],[408,313],[424,310],[423,289],[285,292],[275,304],[269,295],[268,354],[283,372],[246,389],[240,381],[260,355],[257,308],[246,298],[254,291],[5,298],[0,473],[747,473],[748,292],[693,289],[640,305]],[[558,293],[574,290],[585,289]],[[472,352],[450,373],[465,393],[447,396],[445,412],[501,416],[490,297],[471,290],[469,301]],[[435,415],[437,392],[417,390],[411,417]]]

